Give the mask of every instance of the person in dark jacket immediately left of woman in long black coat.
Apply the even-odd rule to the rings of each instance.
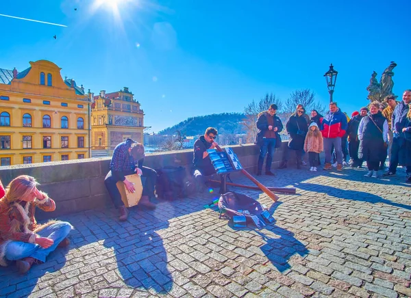
[[[360,113],[353,116],[348,122],[347,134],[348,134],[348,151],[349,157],[352,159],[351,167],[362,167],[362,159],[358,159],[358,148],[360,146],[360,140],[358,139],[358,126],[360,126],[361,119],[367,116],[369,109],[362,107]],[[358,112],[357,112],[358,113]]]

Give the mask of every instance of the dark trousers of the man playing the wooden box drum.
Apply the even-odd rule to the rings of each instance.
[[[135,174],[134,171],[125,171],[123,172],[124,176]],[[142,195],[147,195],[149,198],[154,196],[154,188],[155,188],[155,181],[157,180],[157,172],[151,169],[150,167],[142,167],[142,178],[145,178],[145,183],[142,186]],[[113,201],[114,206],[119,208],[120,206],[124,206],[123,201],[121,200],[121,194],[119,189],[117,188],[116,183],[119,182],[114,176],[112,176],[112,172],[108,172],[107,176],[104,179],[105,188],[110,195],[110,198]]]

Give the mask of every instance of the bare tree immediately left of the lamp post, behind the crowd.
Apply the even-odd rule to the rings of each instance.
[[[286,100],[286,105],[283,109],[284,113],[294,113],[297,105],[303,105],[306,113],[310,113],[312,109],[316,109],[319,113],[325,111],[325,106],[315,100],[315,94],[310,89],[295,90]]]

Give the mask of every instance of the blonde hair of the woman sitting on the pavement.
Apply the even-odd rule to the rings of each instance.
[[[5,188],[5,195],[0,199],[0,202],[10,204],[20,201],[22,198],[27,197],[37,185],[39,185],[38,182],[32,176],[18,176]]]

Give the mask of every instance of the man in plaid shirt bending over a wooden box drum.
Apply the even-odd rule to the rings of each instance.
[[[117,189],[116,183],[122,181],[125,188],[130,193],[134,192],[134,186],[132,182],[129,182],[125,176],[134,174],[135,172],[146,178],[145,185],[142,189],[142,196],[139,206],[143,206],[149,209],[155,208],[155,204],[150,202],[150,198],[154,196],[155,180],[157,179],[157,173],[149,168],[143,167],[144,161],[144,146],[142,144],[127,139],[114,148],[112,160],[110,162],[110,172],[105,176],[104,184],[108,190],[110,198],[113,201],[114,206],[120,211],[120,220],[125,221],[128,217],[127,208],[124,206],[121,200],[121,194]]]

